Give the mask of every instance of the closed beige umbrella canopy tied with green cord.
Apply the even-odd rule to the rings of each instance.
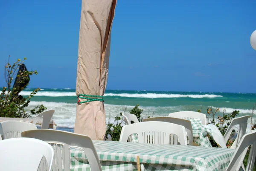
[[[116,0],[82,0],[76,78],[75,133],[102,140],[106,132],[103,104],[108,80],[111,26]]]

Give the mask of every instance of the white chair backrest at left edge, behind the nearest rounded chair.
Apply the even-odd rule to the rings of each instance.
[[[0,136],[2,139],[18,138],[21,133],[26,130],[35,130],[37,127],[34,124],[19,121],[4,121],[0,122]]]

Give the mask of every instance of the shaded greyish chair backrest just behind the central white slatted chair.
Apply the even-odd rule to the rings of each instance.
[[[183,127],[185,127],[188,138],[189,138],[188,145],[193,145],[193,129],[192,129],[191,122],[189,120],[172,118],[172,117],[153,117],[153,118],[143,119],[142,122],[148,122],[148,121],[169,122],[177,125],[182,125]]]

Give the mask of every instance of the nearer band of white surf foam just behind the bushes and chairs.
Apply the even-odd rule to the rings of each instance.
[[[74,128],[76,120],[76,103],[63,103],[63,102],[47,102],[47,101],[31,101],[27,109],[32,109],[35,106],[44,104],[47,109],[54,109],[55,113],[52,119],[55,121],[58,127],[68,127]],[[127,107],[126,112],[129,112],[134,106],[125,106],[125,105],[113,105],[105,104],[106,111],[106,122],[114,122],[115,116],[119,116],[120,112],[124,112],[125,107]],[[191,106],[168,106],[168,107],[154,107],[154,106],[140,106],[143,109],[141,114],[143,118],[145,116],[168,116],[169,113],[192,110]],[[215,108],[215,107],[213,107]],[[227,113],[232,112],[235,109],[222,107],[220,108],[221,112],[226,109]],[[244,115],[249,114],[251,111],[248,109],[237,109],[240,110],[239,114]]]

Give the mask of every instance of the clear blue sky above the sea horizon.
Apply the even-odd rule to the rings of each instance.
[[[256,93],[255,0],[118,0],[107,89]],[[81,1],[0,5],[0,86],[11,55],[30,87],[75,88]]]

